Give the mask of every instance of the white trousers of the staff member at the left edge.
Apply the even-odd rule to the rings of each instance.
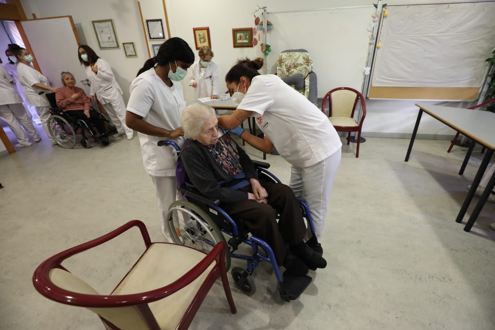
[[[0,105],[0,119],[5,121],[8,127],[10,127],[20,144],[26,145],[29,143],[29,138],[22,130],[21,125],[24,126],[26,132],[34,140],[40,139],[22,103]]]

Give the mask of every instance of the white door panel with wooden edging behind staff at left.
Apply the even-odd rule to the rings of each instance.
[[[69,71],[76,86],[90,94],[90,87],[80,80],[87,78],[77,57],[77,44],[69,17],[21,21],[40,69],[54,87],[62,86],[60,73]]]

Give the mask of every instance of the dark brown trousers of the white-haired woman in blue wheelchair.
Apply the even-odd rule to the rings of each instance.
[[[304,238],[305,221],[297,198],[289,186],[261,179],[259,183],[268,193],[268,204],[245,200],[220,206],[232,219],[244,220],[246,228],[253,236],[267,242],[275,254],[277,264],[282,266],[288,252],[286,244],[296,245]],[[252,192],[250,185],[244,190]],[[278,223],[275,218],[277,213],[280,215]]]

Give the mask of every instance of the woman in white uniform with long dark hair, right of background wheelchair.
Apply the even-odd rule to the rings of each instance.
[[[117,128],[118,135],[127,135],[127,140],[132,140],[134,133],[125,124],[125,103],[122,98],[122,89],[115,80],[110,64],[103,58],[99,58],[95,51],[88,45],[81,45],[78,49],[78,58],[86,69],[86,75],[91,84],[90,100],[96,96],[99,103],[106,110],[113,124]]]

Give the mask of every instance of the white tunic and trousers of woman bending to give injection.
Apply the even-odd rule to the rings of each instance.
[[[240,92],[244,91],[240,88]],[[341,162],[342,142],[334,126],[314,104],[273,74],[252,78],[238,109],[254,112],[258,127],[292,165],[290,187],[308,205],[320,238]]]

